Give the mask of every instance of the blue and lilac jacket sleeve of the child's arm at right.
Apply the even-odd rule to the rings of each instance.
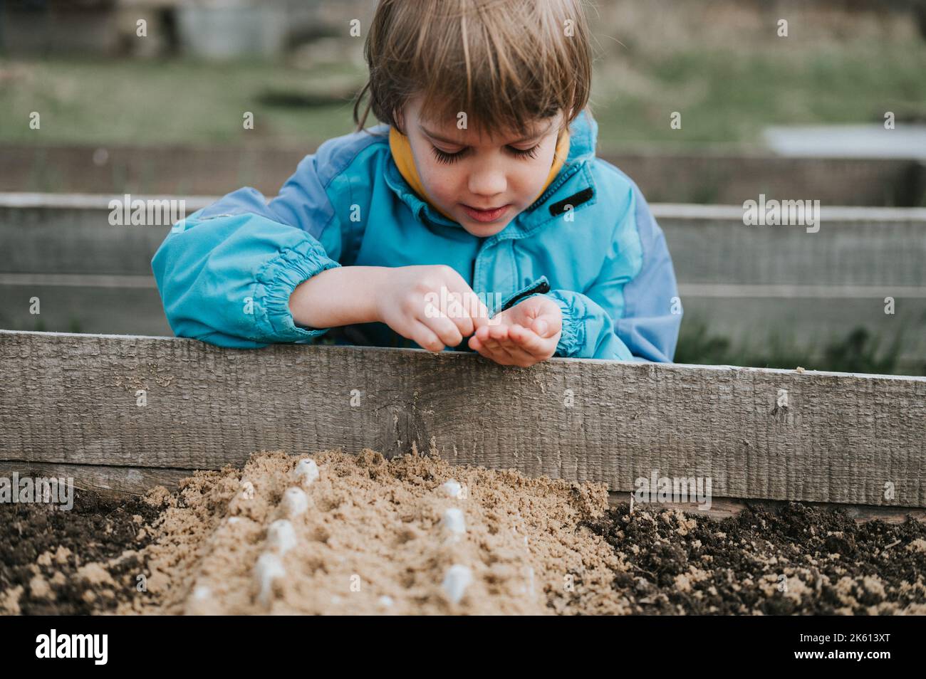
[[[555,355],[671,362],[682,305],[665,236],[635,185],[590,288],[545,294],[563,314]]]

